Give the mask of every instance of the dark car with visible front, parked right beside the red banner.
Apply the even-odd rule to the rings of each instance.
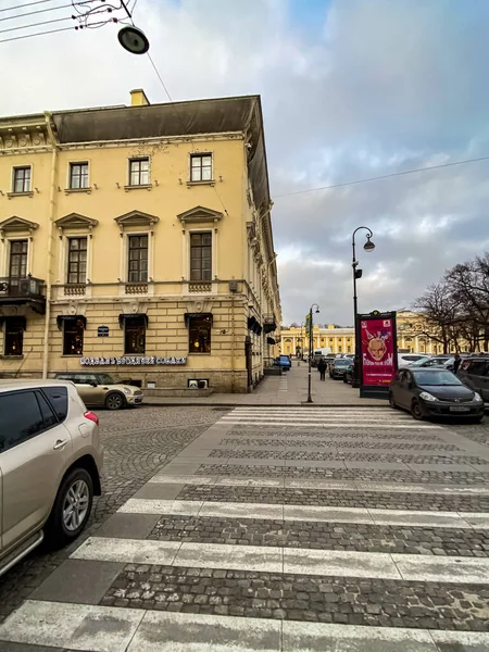
[[[484,417],[480,396],[442,368],[400,369],[389,387],[389,403],[409,410],[416,419],[463,416],[480,422]]]

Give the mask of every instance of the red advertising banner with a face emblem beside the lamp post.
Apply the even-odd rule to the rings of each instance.
[[[362,319],[360,337],[363,385],[388,386],[394,377],[397,367],[393,319]]]

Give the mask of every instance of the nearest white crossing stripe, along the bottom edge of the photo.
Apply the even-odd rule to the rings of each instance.
[[[0,640],[89,652],[474,652],[489,634],[327,625],[27,600],[0,625]],[[462,648],[461,648],[462,649]]]

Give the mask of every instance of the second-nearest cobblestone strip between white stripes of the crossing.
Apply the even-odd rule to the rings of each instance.
[[[171,516],[161,518],[148,538],[196,543],[489,556],[489,530],[451,528]]]

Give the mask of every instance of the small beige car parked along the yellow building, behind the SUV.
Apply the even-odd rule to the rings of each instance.
[[[83,401],[92,408],[121,410],[142,403],[143,394],[139,387],[116,383],[109,374],[64,372],[55,377],[74,383]]]

